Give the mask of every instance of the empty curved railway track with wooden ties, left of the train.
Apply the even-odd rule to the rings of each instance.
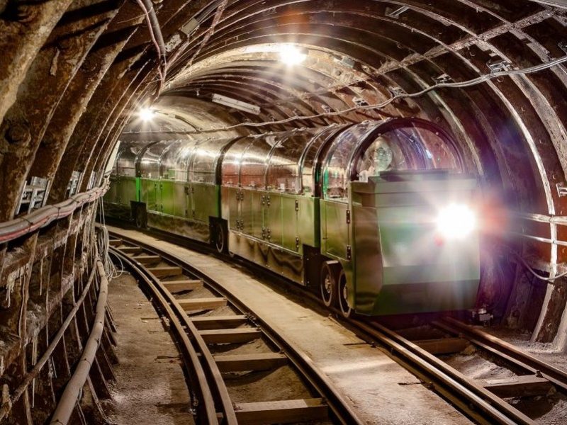
[[[307,356],[208,276],[132,239],[114,237],[110,244],[167,318],[186,366],[197,423],[362,423]],[[262,378],[279,368],[288,370],[278,385],[291,385],[301,397],[235,399],[231,387],[245,385],[249,374]]]

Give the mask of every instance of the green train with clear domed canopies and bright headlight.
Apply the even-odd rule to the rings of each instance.
[[[120,142],[106,215],[269,268],[345,317],[475,306],[478,179],[438,125],[170,139]]]

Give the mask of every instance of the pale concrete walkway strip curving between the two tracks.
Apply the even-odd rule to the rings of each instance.
[[[270,288],[248,271],[134,230],[110,226],[108,229],[140,237],[144,242],[187,259],[237,293],[252,310],[271,326],[281,329],[313,359],[352,400],[366,423],[470,423],[385,353],[364,343],[331,317],[298,304],[301,300],[293,300],[292,296]],[[110,300],[113,302],[112,295]]]

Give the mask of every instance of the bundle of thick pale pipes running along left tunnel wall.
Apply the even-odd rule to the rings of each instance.
[[[106,193],[110,183],[106,181],[103,186],[90,191],[77,193],[77,195],[55,205],[45,205],[28,215],[18,217],[8,222],[0,223],[0,244],[33,232],[50,224],[54,220],[67,217],[86,203],[97,200]]]

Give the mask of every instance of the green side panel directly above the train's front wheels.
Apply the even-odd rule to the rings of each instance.
[[[348,204],[335,200],[320,200],[320,204],[322,254],[347,260],[347,246],[350,244]]]

